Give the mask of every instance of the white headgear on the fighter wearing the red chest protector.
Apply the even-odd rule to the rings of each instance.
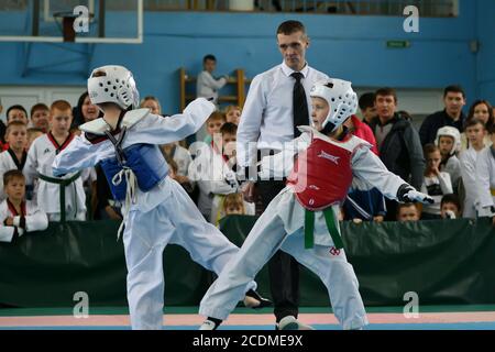
[[[348,80],[329,78],[317,81],[309,96],[324,99],[330,106],[328,117],[322,123],[323,129],[329,132],[336,130],[358,110],[358,96]]]

